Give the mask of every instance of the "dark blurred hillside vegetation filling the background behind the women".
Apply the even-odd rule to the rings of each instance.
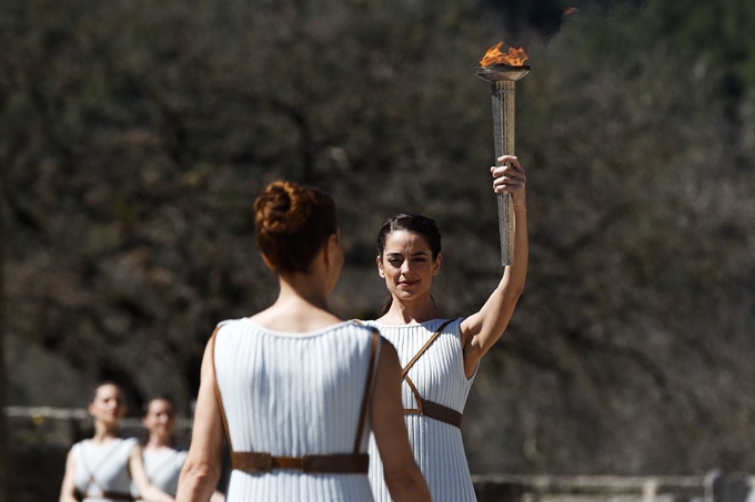
[[[444,232],[442,311],[477,309],[501,268],[473,69],[504,39],[531,55],[531,266],[473,472],[753,472],[753,32],[749,0],[6,0],[7,404],[115,379],[189,414],[214,325],[276,293],[250,209],[276,178],[338,201],[344,317],[380,307],[400,211]]]

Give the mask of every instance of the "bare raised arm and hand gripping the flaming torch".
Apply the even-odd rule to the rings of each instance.
[[[499,162],[500,167],[491,167],[493,188],[496,193],[509,192],[514,198],[514,263],[504,267],[499,286],[482,309],[462,321],[464,372],[467,378],[509,326],[527,275],[526,176],[515,156],[504,155]]]

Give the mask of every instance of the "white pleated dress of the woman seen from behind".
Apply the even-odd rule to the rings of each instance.
[[[215,379],[233,451],[353,453],[372,338],[351,321],[306,334],[271,331],[249,318],[221,322]],[[375,356],[373,371],[376,363]],[[368,450],[369,422],[362,432],[360,453]],[[226,501],[359,502],[372,501],[372,492],[366,474],[233,470]]]

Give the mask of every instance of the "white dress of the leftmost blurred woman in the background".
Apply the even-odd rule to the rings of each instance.
[[[110,502],[103,493],[128,495],[131,488],[129,457],[135,438],[114,439],[97,445],[90,439],[71,448],[76,468],[74,485],[85,502]]]

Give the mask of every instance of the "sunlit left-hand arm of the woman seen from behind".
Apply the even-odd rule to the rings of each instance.
[[[179,502],[210,500],[213,495],[221,471],[223,449],[223,423],[215,397],[215,373],[212,363],[212,342],[210,339],[202,359],[201,381],[194,412],[194,430],[187,461],[179,478]]]

